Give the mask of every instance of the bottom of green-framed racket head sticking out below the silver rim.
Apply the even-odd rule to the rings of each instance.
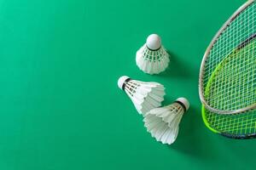
[[[213,132],[231,139],[256,138],[256,111],[247,111],[244,114],[222,115],[207,111],[201,107],[202,119],[205,125]]]

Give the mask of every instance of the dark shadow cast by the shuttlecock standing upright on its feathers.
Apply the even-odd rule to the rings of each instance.
[[[189,69],[189,65],[184,65],[184,62],[179,59],[176,54],[167,51],[170,54],[170,63],[166,68],[166,71],[163,71],[159,74],[159,77],[185,77],[189,78],[192,76],[192,72]]]

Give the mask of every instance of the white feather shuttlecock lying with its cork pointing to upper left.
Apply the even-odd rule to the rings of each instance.
[[[128,94],[137,111],[143,115],[159,107],[166,94],[164,86],[158,82],[141,82],[126,76],[119,77],[118,86]]]

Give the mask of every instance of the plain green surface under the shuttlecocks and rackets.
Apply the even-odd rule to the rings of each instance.
[[[0,169],[255,169],[255,140],[226,139],[201,120],[198,75],[216,31],[244,1],[0,1]],[[151,33],[171,64],[139,71]],[[177,141],[151,138],[120,76],[189,99]]]

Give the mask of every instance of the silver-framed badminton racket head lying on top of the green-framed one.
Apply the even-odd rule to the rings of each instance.
[[[208,111],[236,114],[256,108],[254,18],[256,5],[249,0],[224,23],[207,48],[201,62],[199,94]]]

